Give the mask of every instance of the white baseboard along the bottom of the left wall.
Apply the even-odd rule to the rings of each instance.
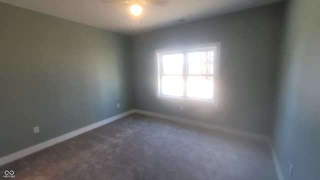
[[[104,125],[106,123],[112,122],[112,121],[114,121],[114,120],[116,120],[118,118],[124,117],[124,116],[129,115],[129,114],[134,113],[134,112],[135,112],[135,110],[131,109],[129,111],[120,113],[118,115],[109,117],[109,118],[101,120],[99,122],[96,122],[96,123],[90,124],[88,126],[79,128],[77,130],[74,130],[72,132],[63,134],[63,135],[55,137],[53,139],[41,142],[39,144],[33,145],[33,146],[25,148],[23,150],[20,150],[20,151],[14,152],[12,154],[6,155],[6,156],[0,158],[0,165],[6,164],[6,163],[11,162],[13,160],[16,160],[18,158],[24,157],[24,156],[26,156],[28,154],[31,154],[33,152],[36,152],[36,151],[41,150],[43,148],[46,148],[48,146],[54,145],[56,143],[59,143],[59,142],[61,142],[63,140],[66,140],[66,139],[69,139],[71,137],[74,137],[74,136],[79,135],[81,133],[84,133],[86,131],[92,130],[92,129],[96,128],[96,127],[99,127],[99,126]]]

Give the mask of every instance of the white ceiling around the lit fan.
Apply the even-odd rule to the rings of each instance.
[[[162,27],[226,14],[282,0],[170,0],[169,6],[142,5],[134,17],[129,4],[100,0],[0,0],[45,14],[133,35]],[[248,2],[253,3],[248,3]],[[179,19],[185,19],[178,22]]]

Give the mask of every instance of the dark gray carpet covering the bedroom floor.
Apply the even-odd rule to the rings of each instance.
[[[14,179],[274,180],[266,142],[133,113],[0,167]],[[13,179],[13,178],[3,178]]]

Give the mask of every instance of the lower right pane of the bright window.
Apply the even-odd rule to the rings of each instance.
[[[212,76],[188,76],[186,95],[193,98],[213,98]]]

